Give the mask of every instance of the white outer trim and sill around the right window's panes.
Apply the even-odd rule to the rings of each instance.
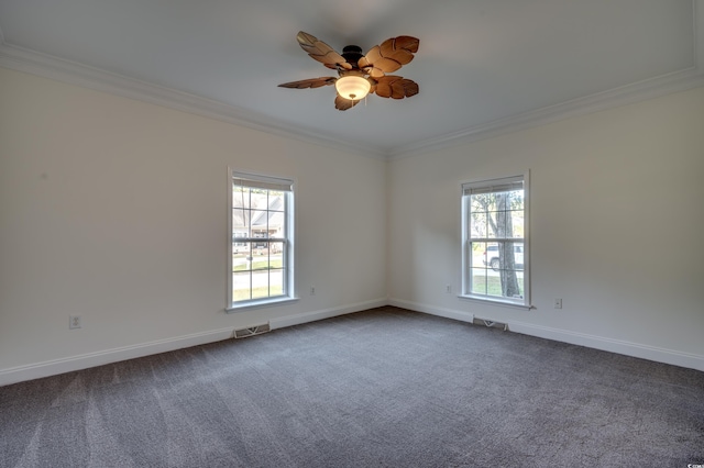
[[[482,294],[472,294],[470,291],[470,233],[469,233],[469,207],[466,205],[465,187],[486,187],[491,188],[494,182],[507,182],[512,179],[516,180],[522,177],[524,181],[524,297],[521,300],[512,300],[508,298],[494,298]],[[481,302],[483,304],[505,305],[524,310],[534,309],[530,300],[530,170],[526,170],[522,175],[514,175],[506,177],[497,177],[494,179],[481,179],[466,181],[460,185],[461,190],[461,209],[462,209],[462,292],[459,298],[462,300]]]

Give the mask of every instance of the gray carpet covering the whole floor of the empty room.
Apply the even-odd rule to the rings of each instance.
[[[704,372],[381,308],[0,388],[2,467],[704,464]]]

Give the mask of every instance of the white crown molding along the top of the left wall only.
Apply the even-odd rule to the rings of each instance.
[[[0,40],[2,40],[1,31]],[[277,136],[337,149],[348,149],[356,154],[362,154],[363,156],[380,159],[384,159],[387,156],[385,152],[373,146],[331,138],[231,104],[152,85],[146,81],[109,73],[76,62],[65,60],[4,42],[0,43],[0,66],[69,85],[220,120]]]

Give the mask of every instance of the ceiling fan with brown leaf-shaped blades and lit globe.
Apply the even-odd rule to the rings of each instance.
[[[316,36],[300,31],[296,35],[300,47],[326,67],[338,70],[338,77],[320,77],[278,85],[282,88],[320,88],[334,85],[338,96],[334,108],[345,111],[353,108],[367,93],[381,98],[404,99],[418,94],[418,85],[407,78],[387,75],[414,59],[419,40],[397,36],[384,41],[366,53],[356,45],[348,45],[338,54]]]

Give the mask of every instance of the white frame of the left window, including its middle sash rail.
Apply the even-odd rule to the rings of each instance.
[[[265,188],[267,190],[282,187],[289,187],[288,190],[282,190],[284,194],[284,236],[283,237],[264,237],[266,243],[284,243],[282,254],[283,271],[283,291],[280,296],[255,298],[246,300],[234,300],[233,291],[233,248],[235,244],[262,242],[262,237],[251,234],[250,237],[234,237],[233,231],[233,194],[237,181],[246,181],[241,183],[244,187]],[[228,168],[228,247],[227,247],[227,300],[226,312],[237,312],[252,308],[268,307],[282,304],[298,300],[295,288],[295,180],[293,178],[275,177],[250,171],[241,171]],[[268,211],[268,207],[266,210]],[[252,247],[253,248],[253,247]],[[268,249],[267,249],[268,253]]]

